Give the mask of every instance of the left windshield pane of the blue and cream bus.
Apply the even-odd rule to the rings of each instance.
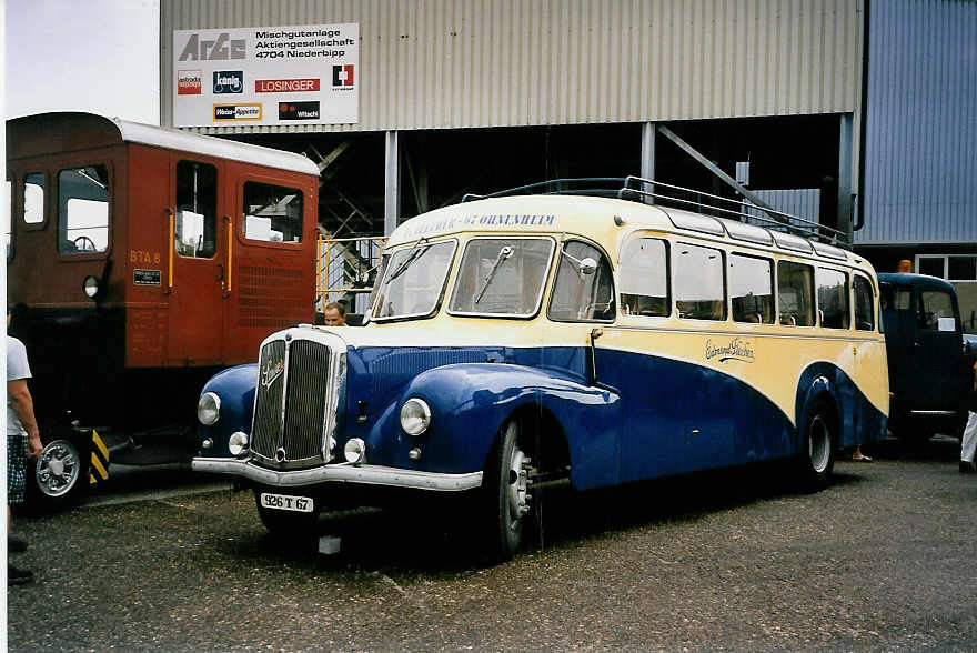
[[[373,304],[374,320],[424,318],[441,301],[455,241],[419,241],[391,255]]]

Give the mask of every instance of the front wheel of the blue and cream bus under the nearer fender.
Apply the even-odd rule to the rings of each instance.
[[[522,546],[530,511],[530,462],[520,448],[520,423],[510,420],[490,453],[484,474],[490,526],[487,553],[493,562],[511,560]]]

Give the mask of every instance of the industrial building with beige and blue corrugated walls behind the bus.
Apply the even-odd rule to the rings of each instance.
[[[305,153],[336,238],[641,174],[909,259],[977,332],[975,2],[164,0],[160,26],[162,124]]]

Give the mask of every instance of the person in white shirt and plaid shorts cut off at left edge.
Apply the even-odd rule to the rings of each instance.
[[[7,307],[10,331],[10,307]],[[41,434],[34,418],[34,404],[27,386],[31,378],[27,349],[18,339],[7,336],[7,539],[11,552],[24,551],[27,542],[10,536],[10,506],[23,503],[27,456],[41,455]],[[30,570],[7,563],[7,584],[22,585],[33,580]]]

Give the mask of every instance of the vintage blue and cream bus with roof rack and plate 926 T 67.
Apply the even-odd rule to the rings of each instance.
[[[273,532],[360,491],[467,492],[501,560],[536,483],[783,460],[823,486],[837,452],[886,432],[872,265],[652,183],[407,220],[365,328],[280,331],[208,382],[193,468],[253,489]]]

